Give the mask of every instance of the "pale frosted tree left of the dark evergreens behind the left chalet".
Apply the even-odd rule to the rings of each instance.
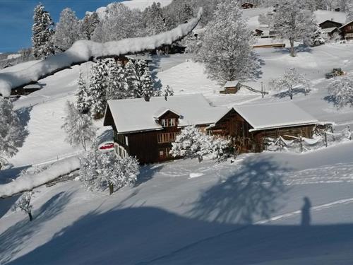
[[[65,141],[72,146],[82,146],[85,150],[87,143],[95,139],[96,128],[88,114],[82,114],[71,102],[66,102],[66,117],[61,126],[66,132]]]

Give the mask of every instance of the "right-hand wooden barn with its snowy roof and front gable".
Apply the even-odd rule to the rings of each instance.
[[[293,102],[237,105],[207,128],[212,134],[230,137],[241,153],[265,150],[266,138],[311,138],[318,120]]]

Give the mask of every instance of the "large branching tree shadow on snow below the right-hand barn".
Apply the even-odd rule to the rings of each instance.
[[[247,158],[235,175],[202,192],[191,216],[220,223],[251,224],[256,217],[269,218],[280,207],[275,199],[286,192],[285,168],[270,159]]]

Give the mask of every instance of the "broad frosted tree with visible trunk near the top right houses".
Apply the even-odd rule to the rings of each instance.
[[[309,39],[313,35],[313,13],[303,8],[303,0],[279,1],[271,28],[278,37],[289,40],[290,56],[295,57],[294,41]]]

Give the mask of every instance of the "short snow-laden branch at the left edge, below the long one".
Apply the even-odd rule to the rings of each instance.
[[[14,180],[13,182],[0,185],[0,198],[12,196],[13,194],[17,194],[19,192],[28,191],[54,180],[57,177],[66,175],[74,170],[78,170],[79,168],[80,159],[78,159],[78,157],[60,160],[40,173],[25,175]]]

